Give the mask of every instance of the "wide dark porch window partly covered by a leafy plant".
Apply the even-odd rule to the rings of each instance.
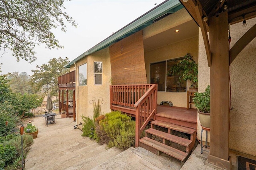
[[[172,75],[171,71],[172,66],[182,59],[184,57],[150,64],[150,83],[158,84],[158,91],[186,92],[186,81]]]

